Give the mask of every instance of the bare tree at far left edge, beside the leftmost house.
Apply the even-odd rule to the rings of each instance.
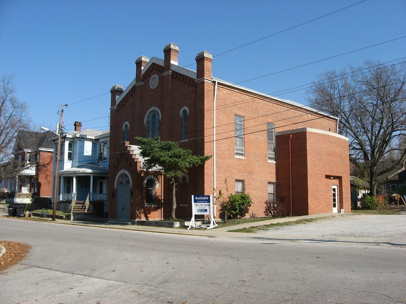
[[[25,102],[19,101],[15,96],[13,76],[4,75],[1,79],[0,91],[0,164],[9,162],[13,156],[14,140],[20,129],[28,129],[28,107]],[[0,166],[5,168],[5,166]],[[7,166],[6,166],[7,167]],[[0,181],[3,177],[0,169]]]

